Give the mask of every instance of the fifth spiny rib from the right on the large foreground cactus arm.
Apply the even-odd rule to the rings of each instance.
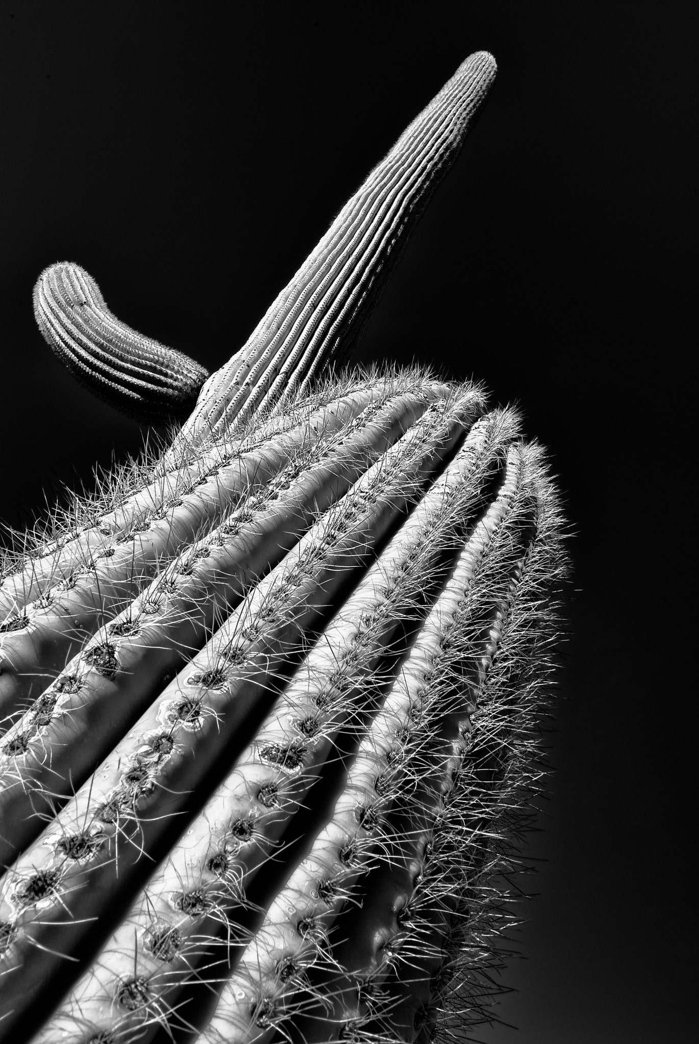
[[[155,699],[163,677],[173,677],[202,648],[216,621],[290,550],[319,512],[343,496],[420,418],[430,390],[378,400],[342,437],[330,433],[303,447],[217,530],[190,545],[67,666],[0,742],[1,833],[13,846],[0,837],[0,864],[8,864],[40,832],[49,805],[55,810],[107,756]],[[79,692],[62,698],[67,687]],[[78,748],[76,757],[73,742],[87,732],[93,742]]]

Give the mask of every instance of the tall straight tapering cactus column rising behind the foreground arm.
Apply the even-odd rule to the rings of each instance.
[[[170,452],[205,445],[264,400],[293,400],[319,366],[347,357],[410,232],[459,155],[495,70],[491,54],[471,54],[410,124],[248,342],[207,380]]]

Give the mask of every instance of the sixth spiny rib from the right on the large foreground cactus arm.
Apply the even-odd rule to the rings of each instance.
[[[427,393],[429,394],[429,393]],[[264,490],[280,470],[295,465],[319,444],[332,438],[352,417],[383,400],[380,388],[354,393],[305,417],[290,431],[240,452],[220,467],[147,511],[149,491],[133,504],[135,521],[121,536],[112,536],[111,520],[100,524],[101,547],[0,630],[0,716],[23,710],[62,671],[86,638],[106,619],[120,612],[153,579],[156,572],[211,525],[248,492]],[[79,551],[75,552],[79,554]],[[64,562],[64,565],[66,563]],[[1,720],[0,718],[0,720]],[[0,729],[2,726],[0,726]]]

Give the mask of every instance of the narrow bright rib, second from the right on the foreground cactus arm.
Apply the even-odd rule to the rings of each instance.
[[[298,983],[319,957],[322,958],[328,939],[332,939],[334,920],[351,897],[352,886],[375,859],[376,853],[396,848],[392,824],[386,817],[401,787],[405,784],[411,789],[415,787],[415,780],[411,780],[407,770],[409,752],[418,752],[419,757],[424,745],[434,742],[434,737],[421,731],[415,718],[424,716],[430,696],[432,701],[437,699],[428,683],[442,655],[441,642],[453,626],[458,608],[467,596],[492,533],[511,513],[512,500],[521,481],[519,452],[518,447],[510,449],[500,490],[466,542],[445,589],[359,745],[332,818],[320,832],[309,856],[274,900],[240,967],[224,988],[205,1040],[217,1044],[261,1040],[275,1029],[283,1029],[292,1015],[298,1017],[299,1011],[303,1012],[308,1005],[308,997],[303,996]],[[500,545],[512,539],[512,526],[505,526],[505,529]],[[343,859],[343,852],[351,852],[351,859]],[[294,912],[289,916],[290,911]],[[357,934],[362,938],[362,922],[370,919],[363,917],[362,911],[353,911],[353,921],[355,917]],[[300,932],[300,923],[313,924],[316,931]],[[354,929],[354,925],[352,927]],[[285,974],[280,974],[280,969],[284,969]],[[301,1000],[295,1004],[299,993]],[[330,995],[332,1001],[336,1005],[335,998]],[[324,1028],[330,1033],[333,1021],[340,1029],[346,1018],[321,1017],[311,1026],[318,1033]],[[260,1034],[265,1022],[269,1034]]]

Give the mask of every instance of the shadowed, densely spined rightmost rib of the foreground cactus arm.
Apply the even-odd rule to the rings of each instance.
[[[487,882],[512,869],[504,828],[516,829],[522,792],[536,786],[527,765],[553,639],[542,595],[560,569],[558,505],[540,453],[525,448],[521,465],[514,533],[503,527],[494,535],[442,636],[433,677],[421,684],[422,720],[402,767],[417,788],[389,812],[388,844],[367,875],[362,909],[337,925],[339,941],[321,962],[330,969],[325,1005],[297,1026],[309,1044],[337,1035],[413,1041],[455,974],[472,993],[483,989],[473,990],[479,967],[487,967],[477,921]],[[508,699],[513,682],[516,701]],[[476,952],[460,955],[460,927]],[[337,966],[350,974],[337,975]],[[479,1021],[472,1006],[468,1018],[461,1009],[459,1025]]]

